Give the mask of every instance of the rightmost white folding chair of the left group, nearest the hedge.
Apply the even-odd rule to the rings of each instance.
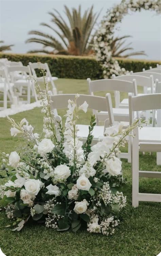
[[[58,78],[56,76],[52,76],[51,75],[48,63],[40,63],[40,64],[38,64],[38,63],[31,63],[31,62],[29,62],[29,66],[30,66],[32,74],[34,75],[34,77],[35,77],[37,82],[43,82],[43,77],[42,76],[38,77],[37,74],[36,74],[35,69],[39,69],[40,66],[41,66],[42,69],[46,70],[47,82],[51,83],[52,90],[53,90],[53,95],[56,95],[57,94],[57,90],[56,90],[56,86],[54,84],[54,81],[57,80]]]

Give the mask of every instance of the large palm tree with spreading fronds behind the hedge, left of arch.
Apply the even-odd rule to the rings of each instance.
[[[51,21],[57,26],[57,29],[47,23],[40,23],[40,25],[47,27],[56,33],[61,40],[56,40],[54,35],[49,35],[37,30],[32,30],[29,35],[37,35],[39,37],[32,37],[26,40],[26,43],[37,42],[43,45],[41,50],[32,50],[31,52],[43,53],[57,53],[57,54],[70,54],[70,55],[88,55],[92,52],[93,37],[92,30],[100,15],[93,13],[93,5],[90,9],[86,10],[81,15],[81,6],[78,10],[75,8],[70,12],[69,8],[65,5],[65,14],[68,18],[69,24],[64,20],[60,13],[54,9],[54,12],[49,12],[52,17]],[[47,47],[51,47],[49,51]]]

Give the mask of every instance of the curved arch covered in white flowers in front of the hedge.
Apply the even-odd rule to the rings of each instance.
[[[96,59],[103,68],[104,78],[109,78],[112,74],[121,75],[126,73],[124,68],[119,66],[117,60],[112,57],[110,44],[114,33],[114,27],[121,22],[128,11],[136,12],[144,10],[153,10],[161,12],[159,0],[122,0],[118,5],[107,11],[106,16],[101,22],[101,27],[94,37],[93,49],[96,53]]]

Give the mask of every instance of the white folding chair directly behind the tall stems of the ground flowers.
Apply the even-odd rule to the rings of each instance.
[[[59,94],[51,96],[51,108],[54,110],[55,115],[55,125],[57,127],[57,137],[59,136],[59,129],[57,121],[61,121],[61,117],[58,116],[57,109],[67,108],[68,107],[68,100],[74,100],[75,94]],[[84,102],[88,103],[88,108],[98,110],[98,111],[107,111],[110,113],[110,119],[105,120],[104,126],[95,125],[92,135],[94,136],[92,143],[95,144],[98,142],[99,138],[104,135],[105,128],[107,126],[111,126],[114,123],[113,113],[112,113],[112,103],[110,94],[107,93],[106,98],[100,96],[91,96],[91,95],[80,95],[77,99],[77,105],[81,105]],[[77,125],[78,137],[81,138],[82,141],[87,140],[87,136],[89,133],[89,125],[78,124]]]

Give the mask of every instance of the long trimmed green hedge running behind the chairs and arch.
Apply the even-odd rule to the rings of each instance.
[[[94,57],[69,56],[69,55],[40,55],[40,54],[8,54],[0,53],[0,58],[7,58],[9,61],[21,61],[24,66],[29,62],[47,62],[52,76],[58,78],[73,79],[102,79],[103,73],[100,64]],[[117,58],[119,65],[126,70],[133,72],[156,67],[157,61],[146,61],[138,59]]]

